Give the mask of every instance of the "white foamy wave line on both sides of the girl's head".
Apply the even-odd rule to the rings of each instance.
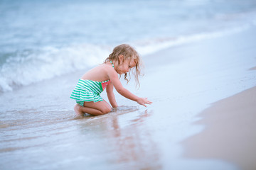
[[[145,57],[168,47],[238,33],[250,26],[212,33],[183,35],[176,38],[156,38],[129,42]],[[14,52],[0,67],[0,91],[12,91],[19,86],[52,79],[63,74],[88,69],[104,62],[112,45],[70,45],[69,47],[43,47],[40,50]]]

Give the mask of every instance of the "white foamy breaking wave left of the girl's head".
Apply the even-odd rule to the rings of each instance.
[[[18,53],[0,68],[0,90],[11,91],[44,79],[51,79],[78,69],[86,69],[103,62],[110,53],[107,47],[73,45],[44,47],[40,51]]]

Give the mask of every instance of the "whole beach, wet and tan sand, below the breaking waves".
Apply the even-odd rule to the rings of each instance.
[[[255,111],[255,54],[256,28],[248,28],[143,56],[140,89],[122,82],[153,104],[144,108],[115,92],[119,110],[96,117],[75,118],[69,98],[87,70],[1,94],[0,169],[252,167],[255,117],[246,112]],[[241,115],[232,100],[251,109],[239,107]],[[215,112],[220,107],[225,113]]]

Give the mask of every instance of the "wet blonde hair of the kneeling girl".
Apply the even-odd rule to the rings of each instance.
[[[136,85],[139,86],[139,76],[142,76],[141,74],[142,60],[140,59],[139,54],[130,45],[127,45],[127,44],[118,45],[117,47],[114,47],[113,52],[110,54],[109,57],[107,57],[107,59],[105,60],[105,63],[112,61],[112,62],[118,62],[118,65],[119,65],[119,62],[120,62],[119,55],[123,55],[124,60],[129,60],[129,61],[134,60],[134,62],[136,63],[135,72],[133,69],[132,73],[134,74]],[[131,79],[130,72],[129,72],[129,79],[127,79],[127,73],[124,74],[124,79],[127,81],[127,84],[128,84],[129,80]]]

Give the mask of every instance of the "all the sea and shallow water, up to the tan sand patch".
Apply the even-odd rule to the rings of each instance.
[[[238,169],[184,158],[181,141],[211,102],[255,86],[255,26],[255,0],[0,0],[0,169]],[[114,91],[111,113],[75,116],[78,79],[122,43],[146,73],[124,86],[153,104]]]

